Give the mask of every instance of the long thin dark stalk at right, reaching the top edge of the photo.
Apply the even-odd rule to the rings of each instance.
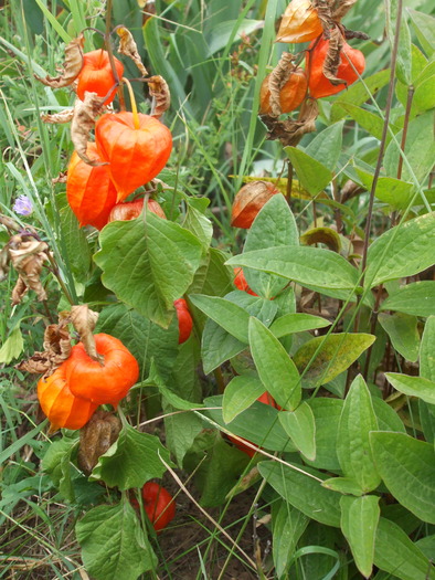
[[[390,83],[389,83],[389,93],[386,97],[385,117],[384,117],[384,124],[382,128],[382,138],[381,138],[381,145],[379,148],[376,167],[374,170],[373,182],[372,182],[372,187],[370,190],[369,211],[368,211],[368,218],[367,218],[367,223],[365,223],[364,247],[362,252],[362,263],[361,263],[361,271],[362,271],[361,284],[362,285],[364,283],[367,253],[369,250],[369,240],[370,240],[370,232],[371,232],[371,225],[372,225],[374,192],[376,191],[378,179],[381,173],[383,156],[385,152],[386,135],[389,131],[391,107],[392,107],[393,96],[394,96],[395,64],[397,61],[399,36],[400,36],[401,22],[402,22],[402,3],[403,3],[402,0],[397,0],[397,20],[395,22],[394,44],[393,44],[393,52],[391,55],[391,77],[390,77]],[[357,319],[356,319],[356,331],[358,331],[359,321],[360,321],[360,313],[358,312]]]

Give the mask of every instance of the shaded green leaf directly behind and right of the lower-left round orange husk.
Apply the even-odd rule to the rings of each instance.
[[[142,377],[149,376],[153,360],[160,377],[169,379],[179,350],[177,316],[169,328],[161,328],[132,308],[116,304],[103,308],[96,331],[118,338],[136,357]]]

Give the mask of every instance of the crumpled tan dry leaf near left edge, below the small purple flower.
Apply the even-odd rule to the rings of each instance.
[[[45,242],[26,235],[13,235],[8,243],[9,257],[19,274],[12,291],[12,305],[20,304],[22,296],[30,288],[39,300],[46,300],[46,292],[41,284],[40,275],[43,263],[49,260]]]

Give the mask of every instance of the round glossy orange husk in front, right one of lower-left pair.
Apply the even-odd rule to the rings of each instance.
[[[65,361],[71,392],[97,404],[113,404],[124,399],[139,378],[139,365],[131,352],[114,336],[95,335],[102,363],[93,360],[82,342],[75,345]]]

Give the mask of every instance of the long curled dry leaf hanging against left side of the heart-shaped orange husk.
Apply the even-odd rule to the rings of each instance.
[[[71,123],[71,139],[81,159],[87,165],[104,165],[97,158],[89,159],[86,155],[89,133],[95,126],[97,116],[102,113],[105,97],[99,97],[96,93],[85,93],[85,99],[76,99],[74,115]]]

